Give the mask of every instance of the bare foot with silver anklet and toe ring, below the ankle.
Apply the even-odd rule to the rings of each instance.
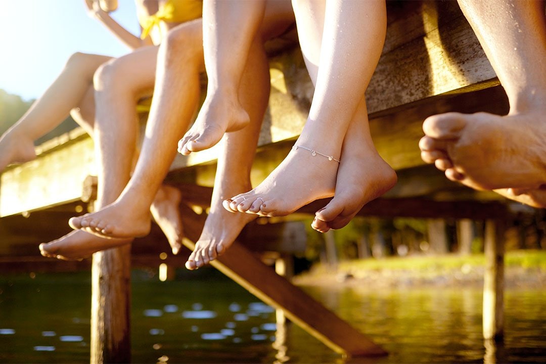
[[[319,152],[331,155],[326,151]],[[333,158],[339,159],[340,152],[337,153]],[[339,163],[314,154],[292,148],[259,186],[226,200],[224,208],[262,216],[286,216],[309,202],[333,196]]]

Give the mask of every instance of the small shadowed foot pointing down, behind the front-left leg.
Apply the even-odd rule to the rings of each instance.
[[[179,208],[181,200],[182,194],[179,189],[164,184],[159,188],[150,206],[153,219],[167,236],[173,254],[180,252],[184,236]]]

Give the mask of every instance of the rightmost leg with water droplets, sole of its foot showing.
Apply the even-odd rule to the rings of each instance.
[[[506,116],[449,112],[427,118],[419,146],[452,181],[527,203],[546,188],[544,3],[459,1],[508,95]],[[513,191],[536,190],[535,196]],[[543,201],[546,202],[546,201]]]

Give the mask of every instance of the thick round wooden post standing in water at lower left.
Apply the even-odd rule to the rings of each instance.
[[[130,245],[93,254],[91,364],[129,363]]]

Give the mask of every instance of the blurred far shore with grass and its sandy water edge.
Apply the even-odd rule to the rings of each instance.
[[[301,285],[366,285],[370,288],[482,285],[483,254],[421,255],[341,261],[315,265],[294,278]],[[505,255],[507,287],[546,288],[546,251],[514,250]]]

